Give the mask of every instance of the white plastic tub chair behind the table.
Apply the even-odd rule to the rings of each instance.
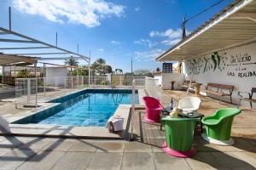
[[[201,99],[198,97],[184,97],[180,99],[177,105],[178,109],[182,109],[183,112],[197,111],[201,105]]]

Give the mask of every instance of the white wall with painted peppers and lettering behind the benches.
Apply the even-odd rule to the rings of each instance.
[[[250,92],[251,88],[256,87],[255,63],[256,43],[252,43],[218,51],[215,55],[207,54],[186,60],[183,62],[183,72],[185,77],[196,82],[234,85],[232,99],[237,103],[238,91]]]

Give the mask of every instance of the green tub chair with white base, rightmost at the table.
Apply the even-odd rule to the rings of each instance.
[[[239,113],[240,109],[224,108],[218,109],[212,116],[203,118],[201,122],[205,124],[207,136],[202,134],[202,137],[207,137],[207,141],[216,144],[234,144],[230,139],[231,127],[234,117]]]

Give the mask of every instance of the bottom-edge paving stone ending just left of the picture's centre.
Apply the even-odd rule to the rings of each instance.
[[[96,152],[86,169],[120,169],[123,153]]]

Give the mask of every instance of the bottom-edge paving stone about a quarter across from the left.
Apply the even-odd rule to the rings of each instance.
[[[92,153],[90,152],[67,152],[55,163],[51,170],[82,170],[87,167]]]

